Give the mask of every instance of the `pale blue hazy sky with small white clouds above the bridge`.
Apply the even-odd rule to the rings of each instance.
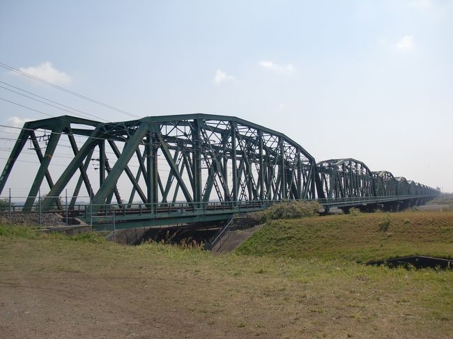
[[[237,116],[316,161],[453,192],[453,0],[2,0],[0,48],[0,63],[127,112],[0,68],[1,125],[68,114],[9,85],[100,120]],[[2,169],[17,130],[0,129]],[[29,189],[25,161],[15,192]]]

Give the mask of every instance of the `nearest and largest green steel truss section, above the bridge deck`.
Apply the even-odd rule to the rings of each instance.
[[[38,130],[50,131],[44,154]],[[312,155],[282,133],[232,116],[150,116],[120,123],[61,116],[25,123],[1,173],[0,194],[28,141],[39,168],[24,210],[32,209],[44,179],[49,192],[43,210],[61,209],[58,197],[67,188],[74,192],[70,207],[85,191],[94,210],[112,202],[130,206],[136,200],[151,208],[317,196]],[[73,157],[54,175],[49,165],[64,141]],[[95,176],[89,171],[92,166]]]

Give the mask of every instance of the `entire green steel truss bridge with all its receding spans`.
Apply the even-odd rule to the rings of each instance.
[[[17,210],[68,210],[96,229],[229,219],[282,200],[317,199],[326,209],[397,209],[438,194],[390,172],[372,172],[355,159],[316,164],[284,134],[240,118],[187,114],[25,123],[1,173],[0,195],[26,145],[38,166]],[[49,165],[68,148],[73,156],[55,171]]]

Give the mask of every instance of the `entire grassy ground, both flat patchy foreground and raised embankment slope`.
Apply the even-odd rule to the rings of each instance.
[[[453,214],[386,221],[272,221],[222,255],[0,227],[0,337],[452,338],[453,271],[355,261],[452,257]]]

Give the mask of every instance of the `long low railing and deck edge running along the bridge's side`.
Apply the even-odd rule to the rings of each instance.
[[[324,207],[344,207],[353,204],[385,203],[397,200],[429,199],[434,196],[429,195],[406,195],[406,196],[367,196],[353,198],[325,198],[317,200]],[[24,212],[24,200],[28,196],[8,196],[0,197],[0,218],[8,219],[16,223],[33,223],[39,226],[48,225],[45,215],[58,212],[63,219],[58,223],[68,225],[70,216],[79,216],[86,223],[112,223],[112,218],[116,221],[128,221],[140,218],[178,218],[182,216],[196,216],[207,214],[236,214],[240,212],[254,212],[264,210],[275,203],[282,203],[288,200],[243,200],[243,201],[211,201],[211,202],[161,202],[161,203],[114,203],[114,204],[93,204],[93,203],[73,203],[72,196],[54,197],[59,201],[47,212],[41,208],[42,199],[37,198],[33,202],[29,212]],[[81,198],[76,197],[76,198]],[[83,197],[82,197],[83,198]],[[85,197],[90,200],[89,196]],[[22,201],[22,203],[21,203]],[[70,203],[71,201],[71,203]],[[308,201],[308,200],[307,200]],[[22,215],[23,214],[23,215]],[[22,216],[21,216],[22,215]],[[49,218],[47,218],[49,219]],[[52,223],[52,221],[50,222]]]

